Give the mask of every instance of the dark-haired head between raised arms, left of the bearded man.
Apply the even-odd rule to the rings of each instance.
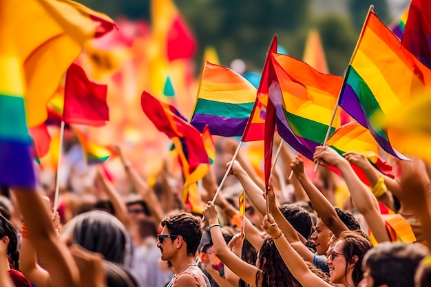
[[[293,228],[308,240],[313,229],[310,213],[305,211],[301,206],[291,204],[283,204],[280,206],[280,211],[286,220],[292,224]]]

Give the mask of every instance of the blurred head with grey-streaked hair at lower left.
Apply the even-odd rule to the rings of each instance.
[[[67,225],[61,235],[88,251],[101,253],[105,259],[118,264],[130,263],[132,245],[121,222],[105,211],[82,213]]]

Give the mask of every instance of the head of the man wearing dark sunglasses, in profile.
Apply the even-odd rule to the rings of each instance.
[[[162,233],[158,236],[157,246],[162,253],[162,260],[177,255],[178,250],[188,256],[194,256],[202,238],[200,218],[190,213],[182,212],[169,215],[162,222]]]

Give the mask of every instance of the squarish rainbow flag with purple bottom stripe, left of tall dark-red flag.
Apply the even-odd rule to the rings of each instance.
[[[242,136],[256,99],[256,89],[232,70],[207,62],[190,123],[212,135]],[[262,138],[261,138],[262,139]]]

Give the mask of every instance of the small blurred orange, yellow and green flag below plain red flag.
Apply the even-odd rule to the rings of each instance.
[[[96,145],[96,143],[89,140],[88,135],[80,127],[73,127],[73,130],[81,142],[81,147],[83,148],[84,160],[87,164],[100,164],[105,162],[109,156],[111,156],[111,151],[106,147],[101,145]]]

